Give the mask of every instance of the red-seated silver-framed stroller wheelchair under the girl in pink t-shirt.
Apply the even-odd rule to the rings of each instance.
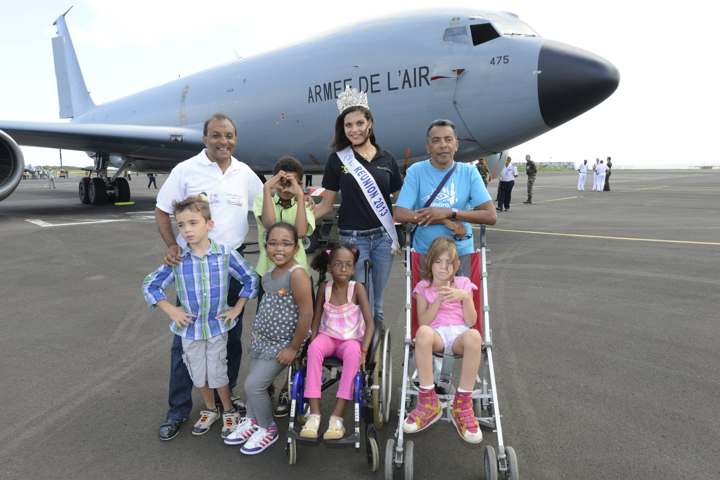
[[[418,403],[420,391],[418,383],[418,371],[410,374],[410,361],[415,361],[415,332],[418,330],[418,318],[415,308],[413,289],[420,281],[420,253],[415,252],[411,245],[410,225],[406,235],[408,245],[405,245],[405,354],[403,357],[402,386],[398,391],[397,412],[398,423],[395,431],[395,438],[387,440],[385,448],[385,479],[392,480],[395,469],[404,469],[405,480],[413,478],[413,440],[405,440],[405,432],[402,430],[402,423],[413,411]],[[474,328],[480,331],[482,336],[482,360],[480,366],[482,377],[476,376],[479,386],[472,392],[472,404],[474,416],[477,418],[480,427],[490,427],[498,435],[498,453],[492,445],[485,447],[485,479],[497,480],[498,474],[505,474],[506,479],[518,479],[518,459],[515,450],[504,445],[503,428],[500,425],[500,409],[498,404],[498,391],[495,384],[495,368],[492,363],[492,330],[490,329],[490,307],[487,304],[487,264],[485,260],[485,225],[480,225],[480,250],[470,254],[469,279],[478,286],[477,294],[473,296],[475,311],[482,316],[475,323]],[[436,384],[436,393],[441,402],[446,402],[444,417],[440,420],[451,422],[452,402],[455,395],[455,387],[451,384],[450,375],[455,360],[462,356],[446,355],[433,352],[433,381]]]

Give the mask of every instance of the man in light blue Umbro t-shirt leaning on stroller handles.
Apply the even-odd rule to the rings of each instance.
[[[395,221],[414,223],[413,248],[421,254],[436,237],[454,238],[460,256],[460,270],[469,275],[469,255],[474,250],[470,224],[495,225],[495,207],[477,168],[453,160],[458,148],[457,130],[450,120],[435,120],[428,127],[425,144],[431,158],[408,168],[405,184],[395,203]],[[440,182],[457,165],[429,207],[428,199]],[[475,207],[477,210],[473,210]],[[423,255],[424,256],[424,255]],[[422,261],[421,261],[422,263]]]

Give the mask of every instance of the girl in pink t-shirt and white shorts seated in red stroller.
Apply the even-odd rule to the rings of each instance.
[[[464,276],[455,276],[459,266],[454,241],[450,237],[433,240],[425,268],[420,272],[423,280],[413,290],[419,325],[415,334],[415,363],[420,381],[418,407],[410,412],[402,430],[419,432],[440,419],[442,407],[433,383],[433,351],[462,355],[451,420],[464,440],[479,443],[482,432],[472,412],[472,389],[482,353],[480,332],[472,328],[477,322],[472,291],[477,286]]]

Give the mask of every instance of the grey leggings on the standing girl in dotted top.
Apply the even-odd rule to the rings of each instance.
[[[261,360],[252,358],[248,378],[245,379],[245,394],[248,397],[248,418],[254,418],[261,428],[273,424],[272,401],[268,387],[287,366],[281,365],[277,358]]]

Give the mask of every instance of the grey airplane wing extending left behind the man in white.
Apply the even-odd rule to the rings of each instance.
[[[179,162],[204,148],[202,128],[192,127],[0,120],[0,130],[12,137],[18,145],[148,160]]]

